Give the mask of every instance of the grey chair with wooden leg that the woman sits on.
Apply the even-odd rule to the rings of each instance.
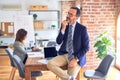
[[[11,66],[12,66],[12,71],[10,73],[10,77],[9,77],[9,80],[13,80],[14,79],[14,75],[15,75],[15,71],[16,71],[16,66],[15,64],[13,63],[13,60],[12,60],[12,57],[13,57],[13,50],[10,49],[10,48],[6,48],[5,51],[7,52],[9,58],[10,58],[10,63],[11,63]]]

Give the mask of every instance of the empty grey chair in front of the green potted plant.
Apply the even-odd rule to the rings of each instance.
[[[86,70],[84,72],[84,77],[87,78],[87,80],[93,79],[105,80],[113,59],[114,57],[112,55],[109,54],[106,55],[105,58],[101,61],[98,68],[95,70]]]

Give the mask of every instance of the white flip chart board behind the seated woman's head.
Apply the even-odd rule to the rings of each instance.
[[[14,27],[15,34],[21,28],[28,32],[27,39],[25,40],[26,44],[29,44],[30,41],[35,42],[33,17],[31,15],[17,15],[15,18]]]

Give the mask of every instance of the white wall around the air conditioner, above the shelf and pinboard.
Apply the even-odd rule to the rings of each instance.
[[[2,9],[4,4],[18,4],[21,5],[22,9],[18,11],[6,11]],[[14,21],[15,15],[28,15],[30,5],[48,5],[49,10],[61,10],[60,2],[58,0],[0,0],[0,22]]]

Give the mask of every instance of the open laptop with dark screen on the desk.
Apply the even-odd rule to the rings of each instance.
[[[57,56],[56,47],[45,47],[44,48],[44,57],[46,59],[52,59],[55,56]]]

